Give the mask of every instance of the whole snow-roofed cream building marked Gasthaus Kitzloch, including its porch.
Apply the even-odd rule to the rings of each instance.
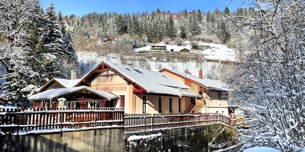
[[[228,89],[221,83],[191,74],[160,72],[102,61],[81,79],[52,79],[30,100],[55,107],[66,98],[68,107],[124,107],[126,113],[220,112],[228,116]],[[71,103],[70,103],[71,102]],[[69,103],[69,104],[68,104]],[[44,106],[43,106],[44,107]]]

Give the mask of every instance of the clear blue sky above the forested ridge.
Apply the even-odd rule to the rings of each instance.
[[[214,11],[216,7],[223,11],[227,6],[230,11],[238,7],[245,7],[242,0],[40,0],[44,9],[53,2],[56,12],[62,11],[64,15],[75,14],[82,16],[90,12],[118,12],[118,13],[140,13],[146,10],[151,13],[157,8],[178,13],[181,10],[200,9],[202,12]]]

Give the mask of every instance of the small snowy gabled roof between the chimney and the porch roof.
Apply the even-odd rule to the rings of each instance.
[[[70,79],[58,79],[58,78],[53,78],[49,82],[47,82],[44,86],[40,87],[39,90],[44,90],[53,83],[57,82],[64,88],[71,88],[76,86],[76,84],[80,81],[80,79],[75,79],[75,80],[70,80]]]

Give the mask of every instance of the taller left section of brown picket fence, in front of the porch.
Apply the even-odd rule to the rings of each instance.
[[[6,134],[20,131],[123,126],[123,108],[19,108],[0,111],[0,129]]]

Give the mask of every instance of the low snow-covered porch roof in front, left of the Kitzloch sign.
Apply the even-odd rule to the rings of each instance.
[[[63,96],[66,94],[78,92],[81,90],[88,90],[98,96],[107,98],[107,99],[115,99],[117,98],[116,95],[106,92],[106,91],[100,91],[100,90],[94,90],[92,88],[86,87],[86,86],[79,86],[79,87],[71,87],[71,88],[59,88],[59,89],[50,89],[41,93],[38,93],[36,95],[30,96],[28,100],[50,100],[55,97]]]

